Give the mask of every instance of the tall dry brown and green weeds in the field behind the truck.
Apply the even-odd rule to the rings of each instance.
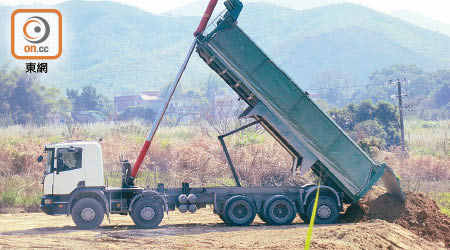
[[[450,192],[449,121],[407,122],[410,153],[381,152],[378,161],[393,167],[406,189]],[[38,209],[44,164],[36,158],[47,143],[98,140],[109,186],[120,186],[119,155],[134,162],[150,125],[141,122],[73,126],[0,128],[0,212],[20,207]],[[407,134],[408,135],[408,134]],[[308,178],[291,176],[292,159],[267,133],[250,130],[225,140],[244,185],[300,185]],[[213,129],[204,125],[161,127],[139,172],[139,186],[234,185],[228,163]]]

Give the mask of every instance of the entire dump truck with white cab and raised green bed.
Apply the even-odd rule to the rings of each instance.
[[[71,215],[80,229],[98,227],[104,216],[130,215],[140,228],[159,225],[164,212],[195,213],[212,205],[228,225],[250,225],[255,216],[270,225],[290,224],[298,214],[308,222],[319,193],[315,222],[335,223],[344,204],[358,200],[381,177],[389,192],[404,199],[393,171],[374,162],[238,27],[243,8],[225,1],[226,11],[206,27],[217,3],[211,0],[194,33],[175,81],[152,125],[134,165],[120,158],[122,186],[105,186],[103,156],[98,142],[67,141],[45,146],[44,195],[41,209],[49,215]],[[218,137],[236,182],[235,187],[137,187],[134,180],[167,109],[176,86],[196,48],[198,55],[239,96],[248,108],[240,118],[247,125]],[[242,186],[224,138],[260,124],[293,159],[292,172],[312,171],[320,184],[303,186]],[[41,155],[38,161],[43,161]]]

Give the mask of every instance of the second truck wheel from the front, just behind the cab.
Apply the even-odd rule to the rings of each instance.
[[[151,198],[139,199],[131,210],[131,218],[139,228],[157,227],[163,217],[163,205]]]

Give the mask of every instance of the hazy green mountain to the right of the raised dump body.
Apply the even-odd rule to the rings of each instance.
[[[247,10],[251,11],[242,15],[241,27],[306,86],[325,69],[345,71],[363,82],[374,69],[392,64],[449,67],[450,60],[442,57],[450,55],[449,37],[359,5],[272,12],[268,5],[255,4]],[[271,22],[248,25],[261,16]]]

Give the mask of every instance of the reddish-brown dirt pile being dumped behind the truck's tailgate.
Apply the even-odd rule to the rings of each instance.
[[[381,187],[375,187],[360,204],[347,208],[341,222],[381,219],[398,224],[430,241],[443,241],[450,248],[450,217],[423,194],[406,192],[406,202],[397,200]]]

